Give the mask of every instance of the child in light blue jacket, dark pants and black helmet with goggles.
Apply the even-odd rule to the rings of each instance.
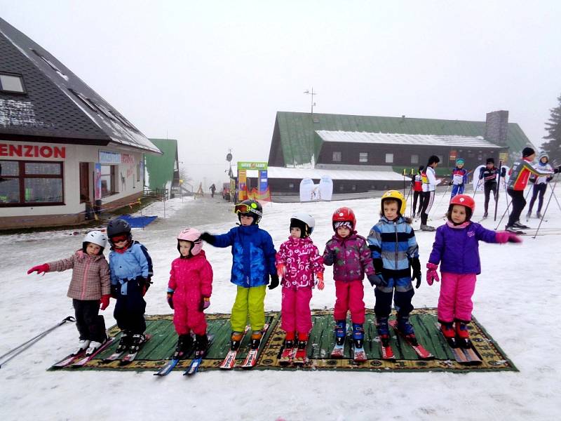
[[[122,332],[116,352],[128,349],[132,354],[146,341],[144,294],[150,287],[154,274],[152,260],[147,248],[138,241],[133,241],[130,225],[125,220],[110,220],[107,224],[107,236],[111,244],[111,295],[117,300],[113,315]]]

